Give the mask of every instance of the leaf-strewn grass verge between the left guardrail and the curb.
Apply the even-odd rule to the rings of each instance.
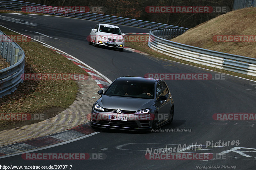
[[[8,29],[0,27],[7,35],[18,35]],[[42,46],[38,42],[18,42],[25,52],[26,73],[76,73],[86,74],[72,61]],[[18,89],[0,98],[0,130],[33,124],[42,120],[4,120],[4,114],[44,114],[44,119],[55,116],[68,108],[76,98],[76,81],[72,80],[43,80],[23,81]]]

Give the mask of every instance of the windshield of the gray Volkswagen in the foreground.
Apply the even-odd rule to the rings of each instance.
[[[113,84],[111,84],[104,95],[153,99],[154,84],[131,81],[115,81]]]

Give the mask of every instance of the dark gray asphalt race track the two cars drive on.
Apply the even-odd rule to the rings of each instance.
[[[5,16],[5,17],[3,17]],[[8,17],[8,18],[6,18]],[[19,20],[14,20],[15,18]],[[24,22],[26,21],[26,22]],[[43,15],[0,14],[1,25],[24,35],[49,36],[45,43],[69,53],[114,81],[120,76],[143,77],[147,73],[220,74],[198,67],[149,57],[124,50],[95,48],[85,40],[99,22]],[[118,25],[122,32],[148,33],[149,29]],[[39,33],[36,33],[39,32]],[[50,38],[51,37],[51,38]],[[225,75],[225,80],[166,81],[175,103],[172,125],[161,129],[172,132],[103,131],[38,153],[100,153],[97,160],[24,160],[21,155],[0,159],[0,164],[20,166],[73,165],[72,169],[255,169],[256,121],[217,121],[215,113],[256,113],[256,82]],[[100,97],[100,96],[99,96]],[[86,101],[85,101],[86,102]],[[185,131],[184,131],[185,130]],[[186,131],[187,130],[187,131]],[[147,148],[177,145],[206,145],[210,142],[239,141],[228,146],[186,150],[184,152],[223,153],[214,160],[148,160]],[[197,144],[196,144],[197,143]],[[233,168],[230,168],[232,167]],[[235,168],[234,168],[235,166]],[[213,168],[212,168],[213,169]]]

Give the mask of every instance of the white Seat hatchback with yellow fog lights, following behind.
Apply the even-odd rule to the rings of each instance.
[[[108,46],[117,48],[119,51],[124,50],[124,36],[120,28],[115,25],[97,24],[88,36],[89,44],[94,44],[95,47]]]

